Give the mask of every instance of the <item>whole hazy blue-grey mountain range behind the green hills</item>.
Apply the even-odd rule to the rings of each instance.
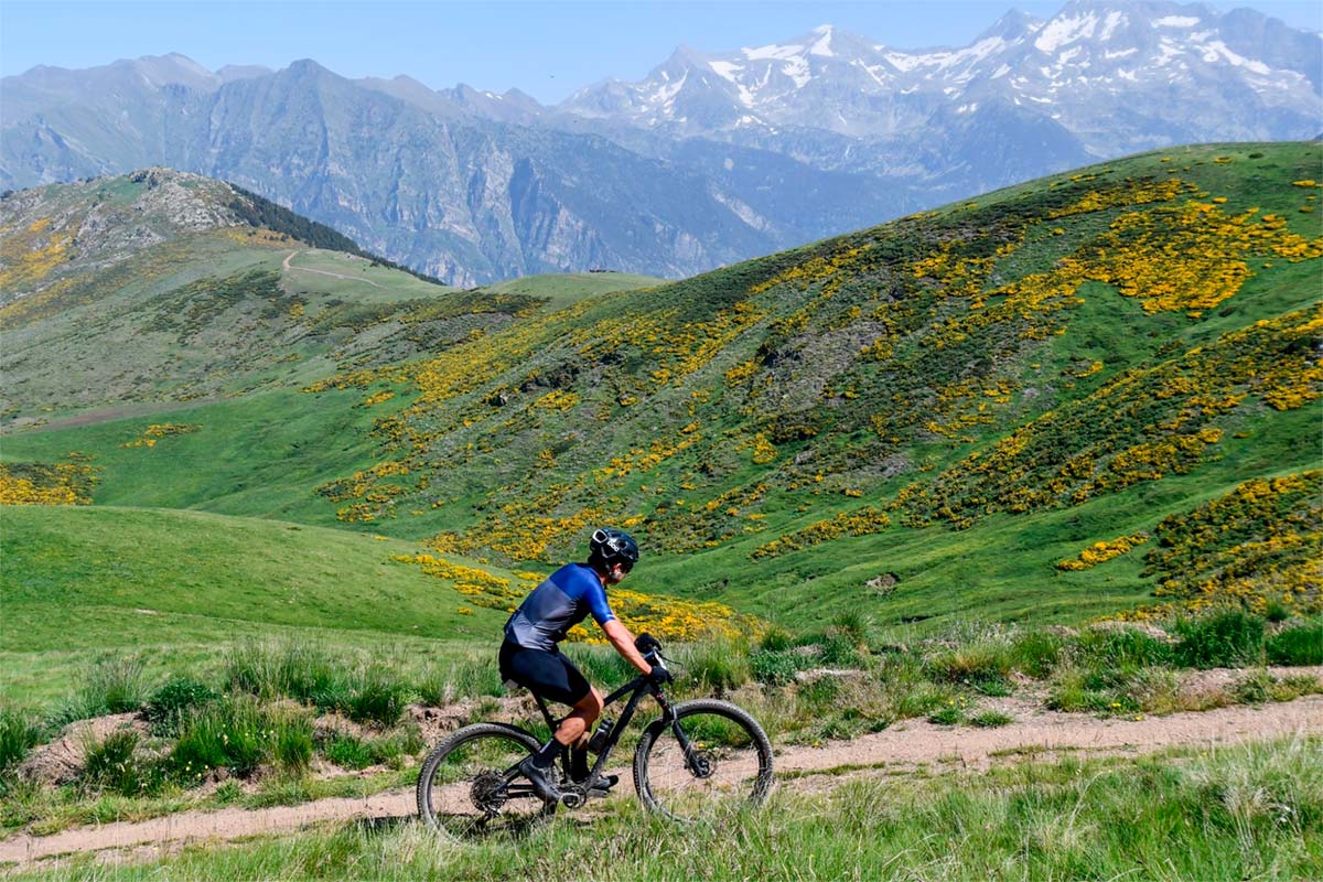
[[[511,90],[183,56],[0,81],[0,184],[164,164],[450,283],[689,275],[1139,149],[1311,139],[1323,38],[1237,9],[1069,3],[958,49],[822,26],[554,107]]]

